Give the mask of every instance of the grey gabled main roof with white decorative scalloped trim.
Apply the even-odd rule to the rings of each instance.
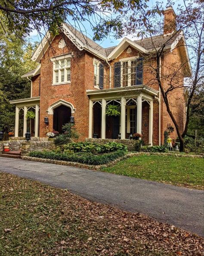
[[[161,34],[153,37],[143,38],[140,40],[131,40],[125,37],[117,46],[104,48],[101,45],[94,42],[89,37],[87,37],[85,34],[73,28],[71,25],[67,23],[64,23],[62,25],[62,31],[79,50],[87,50],[90,53],[93,53],[94,55],[106,61],[114,59],[117,56],[119,56],[128,47],[128,45],[137,49],[141,53],[148,54],[154,51],[155,49],[158,49],[164,44],[165,44],[165,49],[172,50],[172,48],[176,47],[176,45],[179,43],[179,40],[181,39],[181,37],[184,38],[182,33],[176,34],[173,37],[172,37],[172,34],[165,34],[165,35]],[[42,58],[43,53],[47,50],[47,48],[49,47],[49,44],[52,42],[53,39],[54,37],[52,37],[49,34],[49,32],[46,33],[46,36],[43,38],[43,40],[35,50],[31,59],[33,61],[40,62],[40,59]],[[188,65],[187,65],[188,73],[191,73],[191,66],[189,62],[187,48],[185,47],[184,50],[185,50],[185,56],[186,56],[185,59],[188,60]],[[23,77],[25,77],[26,75],[28,76],[28,74],[25,74],[23,75]]]

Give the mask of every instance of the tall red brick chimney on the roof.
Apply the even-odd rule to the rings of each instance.
[[[164,10],[164,34],[169,34],[173,31],[176,31],[176,14],[170,5]]]

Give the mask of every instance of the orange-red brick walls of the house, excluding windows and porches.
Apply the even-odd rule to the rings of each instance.
[[[45,136],[46,125],[44,124],[44,117],[47,116],[46,110],[50,105],[62,99],[68,101],[74,105],[76,108],[76,112],[74,113],[75,125],[77,131],[80,134],[80,139],[84,139],[88,137],[88,126],[89,126],[89,99],[87,97],[86,90],[94,89],[93,87],[93,56],[91,53],[86,51],[80,51],[74,44],[71,43],[68,39],[66,39],[67,46],[64,49],[59,49],[59,41],[61,40],[61,36],[58,35],[52,42],[52,47],[50,47],[41,60],[41,81],[40,76],[36,76],[32,78],[33,80],[33,97],[39,96],[39,84],[40,84],[40,137]],[[130,47],[131,48],[131,47]],[[133,49],[131,53],[127,53],[127,49],[121,53],[117,59],[111,62],[112,73],[111,73],[111,87],[114,87],[114,62],[119,61],[119,59],[128,58],[132,56],[141,56],[141,54]],[[67,54],[73,52],[74,58],[71,59],[71,83],[70,84],[62,84],[62,85],[52,85],[53,84],[53,62],[51,62],[50,58],[53,56],[59,56],[62,54]],[[174,53],[174,54],[173,54]],[[178,61],[179,54],[176,51],[173,53],[169,53],[165,56],[163,60],[163,68],[162,72],[166,72],[168,68],[167,63],[173,60]],[[172,56],[171,56],[172,54]],[[101,60],[102,61],[102,60]],[[149,61],[149,63],[148,63]],[[144,65],[144,74],[143,74],[143,84],[146,84],[155,90],[158,90],[158,84],[154,81],[154,74],[152,74],[150,66],[155,65],[155,59],[148,59]],[[102,61],[104,65],[104,89],[109,88],[109,66],[106,62]],[[164,65],[165,64],[165,65]],[[149,82],[151,81],[151,82]],[[97,89],[96,89],[97,90]],[[182,89],[183,90],[183,89]],[[171,102],[177,107],[174,107],[174,111],[178,112],[178,106],[182,109],[183,116],[183,99],[181,97],[181,90],[176,91],[176,96],[171,95]],[[154,100],[153,106],[153,144],[158,144],[158,119],[159,119],[159,105],[158,101]],[[178,116],[180,116],[181,111],[179,111]],[[176,113],[177,113],[176,112]],[[147,111],[148,113],[148,111]],[[144,121],[143,124],[148,121],[148,117],[143,112]],[[53,130],[53,115],[49,115],[49,131]],[[182,125],[183,119],[178,117],[179,125]],[[146,122],[147,123],[147,122]],[[167,123],[171,123],[170,117],[167,115],[167,111],[165,109],[164,103],[161,102],[161,143],[163,143],[163,134],[164,130],[166,130]],[[145,132],[145,141],[148,143],[148,126],[143,127],[142,130]],[[174,135],[174,134],[173,134]],[[176,135],[175,135],[176,136]]]

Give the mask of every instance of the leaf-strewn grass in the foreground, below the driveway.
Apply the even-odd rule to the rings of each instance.
[[[0,256],[201,256],[202,246],[145,215],[0,173]]]

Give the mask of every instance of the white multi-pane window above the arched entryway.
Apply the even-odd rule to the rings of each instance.
[[[71,59],[53,61],[53,84],[70,83]]]

